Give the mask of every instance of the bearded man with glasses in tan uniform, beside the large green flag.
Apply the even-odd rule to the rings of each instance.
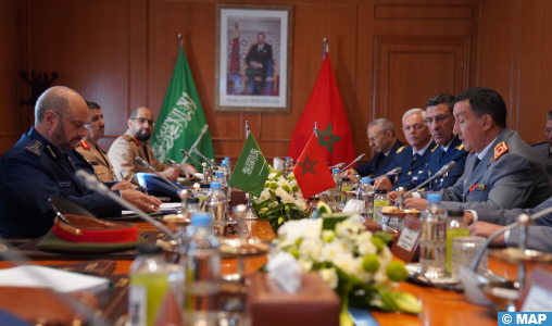
[[[108,156],[111,163],[113,163],[115,175],[138,185],[135,174],[138,172],[149,173],[148,168],[135,161],[135,158],[139,156],[167,179],[176,180],[180,175],[180,170],[163,164],[155,159],[149,145],[153,126],[155,125],[153,112],[148,108],[136,108],[130,111],[127,125],[128,129],[125,135],[115,139],[108,152]],[[190,172],[197,172],[192,164],[185,164],[184,167]],[[183,174],[183,176],[190,177],[187,173]]]

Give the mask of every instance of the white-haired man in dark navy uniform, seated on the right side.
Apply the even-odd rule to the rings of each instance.
[[[415,183],[427,168],[429,156],[437,145],[431,140],[429,128],[424,124],[426,112],[422,109],[411,109],[404,113],[402,129],[409,146],[397,151],[393,161],[384,174],[396,167],[402,167],[402,172],[398,176],[391,175],[389,178],[377,179],[374,184],[375,188],[389,190],[393,184],[394,187],[411,187],[412,183]]]

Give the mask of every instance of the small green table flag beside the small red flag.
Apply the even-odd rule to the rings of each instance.
[[[253,134],[249,133],[228,184],[260,197],[269,173],[268,163],[266,163],[259,145],[256,145]]]

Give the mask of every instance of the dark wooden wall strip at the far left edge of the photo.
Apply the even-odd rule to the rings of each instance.
[[[0,156],[21,138],[17,128],[21,112],[26,106],[20,106],[20,26],[17,20],[17,1],[0,2],[0,101],[3,108],[0,120]],[[9,49],[9,50],[8,50]],[[26,99],[26,98],[25,98]]]

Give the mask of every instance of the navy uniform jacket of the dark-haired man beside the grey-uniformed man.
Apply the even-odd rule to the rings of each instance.
[[[427,168],[424,170],[418,178],[415,181],[412,181],[406,189],[413,189],[423,184],[450,161],[456,162],[456,165],[449,173],[434,179],[422,189],[438,191],[442,188],[454,186],[456,180],[462,176],[462,174],[464,174],[464,165],[466,164],[467,154],[468,152],[464,150],[464,146],[459,139],[459,136],[455,136],[442,159],[442,146],[439,146],[436,150],[434,150],[431,156],[429,158],[429,162],[427,163]]]

